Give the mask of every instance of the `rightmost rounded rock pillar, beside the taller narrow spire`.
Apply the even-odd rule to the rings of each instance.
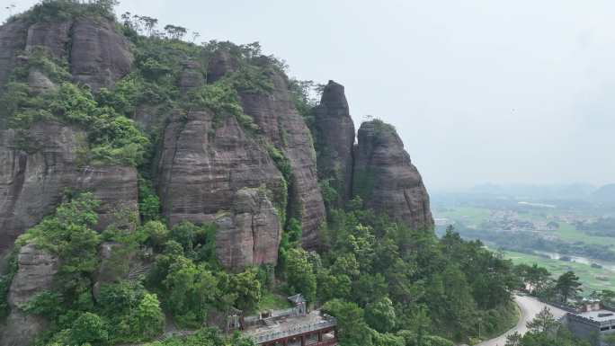
[[[396,130],[380,120],[364,122],[354,155],[352,190],[367,208],[413,228],[433,226],[429,195]]]

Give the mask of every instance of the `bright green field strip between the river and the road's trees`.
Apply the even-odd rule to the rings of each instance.
[[[615,273],[607,269],[592,268],[587,264],[575,262],[563,262],[559,260],[549,260],[540,256],[535,256],[527,253],[514,253],[510,251],[504,252],[504,256],[511,259],[515,264],[538,264],[541,267],[547,268],[554,277],[561,275],[566,271],[575,271],[581,282],[584,284],[584,295],[588,295],[592,290],[599,289],[615,289]],[[602,277],[603,279],[598,279]]]

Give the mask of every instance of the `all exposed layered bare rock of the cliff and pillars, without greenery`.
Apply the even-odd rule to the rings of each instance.
[[[129,74],[133,59],[128,40],[104,19],[9,22],[0,26],[0,93],[18,63],[17,53],[36,47],[66,60],[73,81],[89,85],[94,92]],[[268,63],[256,60],[254,64]],[[180,93],[185,96],[237,68],[238,62],[223,50],[209,60],[207,73],[201,61],[186,61]],[[304,247],[321,245],[318,233],[325,221],[325,206],[318,178],[334,180],[340,192],[338,208],[358,194],[367,207],[410,226],[432,226],[421,176],[394,131],[382,131],[388,128],[377,122],[363,124],[359,145],[353,149],[354,125],[343,85],[330,82],[315,110],[316,140],[325,148],[316,159],[312,135],[295,108],[287,76],[273,69],[267,77],[270,92],[239,93],[243,111],[259,127],[258,136],[249,134],[231,115],[192,110],[154,119],[150,113],[156,110],[138,105],[135,120],[145,129],[163,128],[154,176],[170,226],[183,220],[216,223],[216,253],[228,269],[275,264],[282,212],[302,221]],[[56,87],[37,70],[30,71],[28,84],[36,93]],[[0,129],[4,129],[2,119]],[[27,137],[26,148],[18,131],[0,130],[0,271],[1,260],[16,237],[52,212],[66,189],[93,191],[102,200],[98,229],[111,223],[114,211],[138,209],[137,170],[82,164],[79,150],[85,145],[84,131],[40,122],[27,131]],[[288,159],[288,185],[268,145],[279,148]],[[288,204],[281,196],[288,197]],[[103,250],[104,246],[111,245],[103,244]],[[104,260],[105,255],[100,256]],[[56,258],[31,245],[22,247],[18,264],[9,297],[13,307],[49,288],[58,269]],[[43,318],[22,315],[17,308],[7,321],[0,346],[28,344],[45,325]]]

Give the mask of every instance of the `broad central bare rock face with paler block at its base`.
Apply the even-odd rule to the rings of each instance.
[[[280,219],[261,195],[248,203],[247,197],[256,197],[245,188],[281,193],[281,173],[235,117],[225,116],[218,125],[215,117],[211,111],[175,114],[166,127],[156,182],[163,213],[172,226],[183,220],[218,222],[218,259],[229,268],[275,263]],[[225,213],[228,219],[219,220]],[[266,218],[268,229],[258,226],[259,217]],[[264,241],[270,233],[275,236]]]

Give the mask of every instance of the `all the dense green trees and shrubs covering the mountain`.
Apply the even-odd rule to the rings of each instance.
[[[176,25],[161,30],[155,18],[131,13],[118,19],[113,10],[114,2],[107,0],[48,0],[8,20],[111,20],[134,55],[128,75],[111,87],[93,90],[74,81],[67,61],[46,49],[22,51],[21,63],[2,93],[0,126],[17,134],[19,150],[36,152],[38,144],[29,138],[29,130],[41,121],[57,122],[83,134],[75,153],[80,164],[138,170],[138,212],[114,210],[113,222],[98,232],[94,228],[101,200],[90,191],[67,189],[55,211],[15,242],[0,280],[0,319],[11,310],[7,301],[18,253],[34,246],[59,259],[52,287],[19,306],[22,313],[49,322],[33,344],[248,346],[253,342],[239,333],[227,335],[206,326],[212,315],[225,315],[231,308],[254,314],[267,299],[300,292],[312,307],[337,318],[343,346],[451,346],[509,329],[518,316],[512,301],[515,289],[530,285],[532,293],[564,302],[575,297],[579,284],[573,273],[552,279],[539,268],[515,267],[480,242],[461,239],[453,229],[438,238],[432,227],[413,227],[366,207],[362,193],[344,200],[343,183],[330,178],[319,181],[325,202],[320,246],[316,251],[304,248],[306,221],[287,193],[295,182],[288,158],[281,146],[263,137],[238,96],[270,93],[272,73],[287,69],[283,61],[263,55],[258,43],[196,44],[197,32]],[[236,59],[236,72],[183,93],[179,80],[184,62],[198,60],[207,66],[220,49]],[[29,85],[32,70],[53,86],[34,90]],[[314,95],[322,87],[292,79],[289,85],[296,109],[316,138],[316,154],[322,155],[327,148],[317,140],[314,124]],[[160,119],[148,127],[135,119],[138,105],[144,103]],[[162,212],[153,171],[163,140],[163,115],[177,111],[180,124],[185,124],[195,109],[213,111],[215,126],[234,117],[248,136],[266,147],[281,172],[283,188],[259,188],[272,197],[283,230],[275,265],[228,269],[216,253],[216,223],[170,223]],[[375,123],[379,130],[395,132],[379,120]],[[358,185],[353,189],[372,188],[368,178],[354,182]],[[104,249],[111,250],[102,255]],[[583,344],[573,342],[564,328],[550,333],[557,326],[552,316],[539,318],[529,334],[508,344]],[[195,333],[152,342],[169,321]]]

